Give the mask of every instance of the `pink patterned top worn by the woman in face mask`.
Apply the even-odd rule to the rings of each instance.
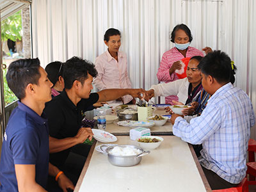
[[[204,53],[202,51],[199,51],[198,49],[194,47],[188,47],[188,51],[186,52],[186,58],[191,58],[193,56],[204,56]],[[159,81],[163,81],[164,83],[168,83],[171,81],[175,81],[179,79],[177,77],[176,73],[173,73],[170,76],[169,69],[172,67],[173,63],[175,61],[182,60],[184,56],[178,51],[176,47],[173,47],[169,51],[164,52],[160,67],[158,69],[158,72],[156,74],[157,79]],[[165,97],[165,103],[166,104],[173,104],[172,100],[179,100],[177,95],[170,95],[168,97]]]

